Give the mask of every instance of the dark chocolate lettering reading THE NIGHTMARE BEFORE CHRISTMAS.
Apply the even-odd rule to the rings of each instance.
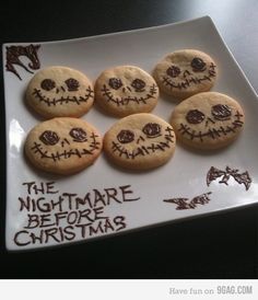
[[[20,211],[27,212],[26,223],[16,232],[17,246],[61,243],[87,239],[96,234],[120,231],[127,227],[125,216],[110,218],[105,207],[112,204],[139,200],[133,197],[131,185],[117,188],[92,189],[80,196],[77,193],[59,193],[54,182],[24,183],[27,196],[17,197]],[[43,194],[44,196],[37,196]],[[49,199],[50,197],[50,199]]]

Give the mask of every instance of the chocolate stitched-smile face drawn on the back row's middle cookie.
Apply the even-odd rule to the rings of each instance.
[[[115,95],[114,91],[121,91],[122,96]],[[133,79],[130,84],[126,85],[119,78],[109,78],[107,84],[103,85],[102,93],[108,102],[112,101],[117,106],[127,105],[130,102],[146,104],[148,100],[156,96],[157,85],[148,86],[145,81],[139,78]]]

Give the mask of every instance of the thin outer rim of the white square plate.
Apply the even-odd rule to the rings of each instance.
[[[47,44],[63,44],[63,43],[73,43],[73,42],[80,42],[80,41],[85,41],[85,39],[95,39],[95,38],[103,38],[103,37],[108,37],[108,36],[115,36],[115,35],[124,35],[124,34],[131,34],[131,33],[141,33],[141,32],[148,32],[148,31],[156,31],[156,30],[163,30],[163,28],[166,28],[166,27],[171,27],[171,26],[178,26],[178,25],[181,25],[181,24],[189,24],[189,23],[192,23],[192,22],[210,22],[210,24],[212,25],[212,30],[216,33],[218,37],[221,39],[221,43],[223,44],[223,47],[225,47],[225,49],[227,50],[228,55],[231,56],[231,58],[234,60],[235,65],[237,66],[242,77],[245,79],[245,82],[247,83],[248,88],[250,89],[251,93],[254,94],[254,96],[258,100],[258,95],[255,91],[255,89],[253,88],[253,85],[250,84],[248,78],[246,77],[245,72],[242,70],[241,66],[238,65],[237,60],[234,58],[232,51],[230,50],[227,44],[225,43],[224,38],[222,37],[222,35],[220,34],[220,32],[218,31],[214,22],[212,21],[212,19],[209,16],[209,15],[204,15],[204,16],[200,16],[200,18],[195,18],[195,19],[191,19],[191,20],[186,20],[186,21],[179,21],[179,22],[175,22],[175,23],[168,23],[168,24],[163,24],[163,25],[156,25],[156,26],[149,26],[149,27],[140,27],[140,28],[136,28],[136,30],[129,30],[129,31],[119,31],[119,32],[113,32],[113,33],[106,33],[106,34],[99,34],[99,35],[92,35],[92,36],[85,36],[85,37],[78,37],[78,38],[69,38],[69,39],[60,39],[60,41],[47,41],[47,42],[33,42],[33,43],[30,43],[30,44],[42,44],[42,45],[47,45]],[[9,135],[9,126],[10,126],[10,117],[7,117],[7,102],[5,102],[5,82],[7,82],[7,79],[5,79],[5,73],[7,73],[7,70],[5,70],[5,64],[4,64],[4,60],[5,60],[5,51],[4,51],[4,47],[7,46],[10,46],[10,45],[24,45],[24,44],[28,44],[28,43],[5,43],[5,44],[2,44],[2,59],[3,59],[3,80],[4,80],[4,107],[5,107],[5,230],[4,230],[4,234],[5,234],[5,247],[8,251],[35,251],[35,250],[44,250],[46,247],[52,247],[52,246],[69,246],[71,244],[78,244],[80,242],[89,242],[91,240],[95,240],[95,239],[98,239],[98,238],[109,238],[109,236],[114,236],[116,234],[119,234],[114,232],[114,233],[110,233],[110,234],[103,234],[103,235],[97,235],[97,236],[94,236],[92,239],[81,239],[81,240],[74,240],[74,241],[71,241],[71,242],[64,242],[64,243],[60,243],[60,244],[54,244],[54,245],[38,245],[38,246],[33,246],[33,247],[25,247],[25,249],[20,249],[20,247],[15,247],[15,249],[12,249],[12,247],[9,247],[8,246],[8,240],[7,240],[7,231],[8,231],[8,218],[7,218],[7,214],[8,214],[8,160],[7,158],[9,157],[8,154],[8,150],[9,150],[9,140],[8,140],[8,135]],[[200,217],[206,217],[206,216],[209,216],[209,215],[218,215],[218,214],[222,214],[222,212],[227,212],[227,211],[231,211],[231,210],[234,210],[234,209],[239,209],[239,208],[244,208],[244,207],[249,207],[249,206],[254,206],[254,205],[257,205],[257,203],[249,203],[249,204],[242,204],[239,206],[234,206],[234,207],[228,207],[228,208],[220,208],[220,209],[216,209],[216,210],[213,210],[213,211],[206,211],[206,212],[202,212],[202,214],[198,214],[198,215],[191,215],[191,216],[184,216],[184,217],[180,217],[178,219],[172,219],[169,221],[163,221],[163,222],[159,222],[159,223],[150,223],[148,226],[143,226],[143,227],[136,227],[136,228],[132,228],[132,229],[127,229],[126,231],[122,231],[121,234],[126,234],[127,232],[131,232],[131,231],[136,231],[136,230],[144,230],[149,227],[156,227],[156,226],[163,226],[163,224],[166,224],[166,223],[172,223],[172,222],[178,222],[178,221],[185,221],[185,220],[189,220],[189,219],[194,219],[194,218],[200,218]]]

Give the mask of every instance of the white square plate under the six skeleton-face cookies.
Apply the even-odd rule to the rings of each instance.
[[[8,46],[27,45],[3,45],[3,66]],[[14,65],[20,80],[4,69],[8,250],[86,241],[257,203],[257,96],[209,16],[35,45],[40,45],[40,68],[68,66],[85,72],[92,80],[110,66],[136,65],[151,72],[167,53],[183,48],[203,50],[214,58],[219,69],[212,90],[238,100],[246,124],[231,147],[202,153],[178,145],[167,164],[150,172],[122,171],[101,155],[94,165],[79,174],[54,176],[31,168],[23,154],[26,134],[40,122],[24,104],[24,92],[33,74]],[[30,69],[30,60],[20,58]],[[175,105],[161,96],[153,113],[168,120]],[[116,122],[96,107],[83,118],[103,135]],[[222,173],[208,185],[211,166]],[[213,170],[211,176],[214,174]]]

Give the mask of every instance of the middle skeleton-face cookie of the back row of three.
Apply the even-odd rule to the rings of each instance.
[[[95,83],[97,104],[113,116],[151,112],[159,97],[155,80],[134,66],[105,70]]]

